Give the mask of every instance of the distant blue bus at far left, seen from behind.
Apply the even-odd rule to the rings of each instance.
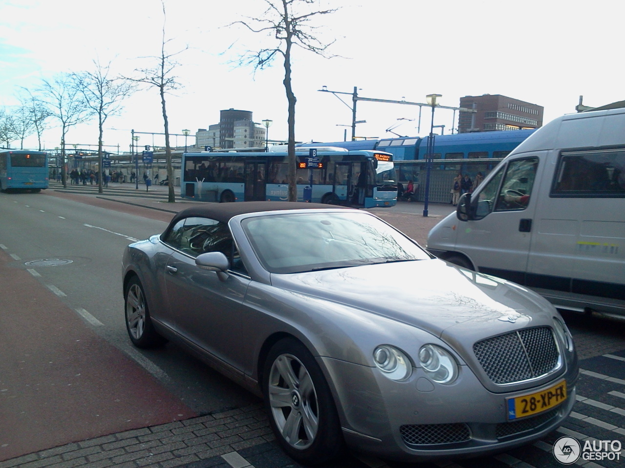
[[[0,151],[0,191],[41,192],[49,185],[47,154],[41,151]]]

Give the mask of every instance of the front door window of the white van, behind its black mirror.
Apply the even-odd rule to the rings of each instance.
[[[515,159],[508,163],[495,205],[496,212],[524,210],[536,178],[538,158]]]

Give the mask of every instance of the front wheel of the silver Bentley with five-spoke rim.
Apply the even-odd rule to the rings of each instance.
[[[262,389],[277,441],[302,464],[316,465],[342,451],[341,424],[319,364],[292,338],[274,344],[263,373]]]

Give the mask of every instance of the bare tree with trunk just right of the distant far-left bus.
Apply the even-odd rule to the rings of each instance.
[[[37,90],[41,102],[46,105],[52,117],[61,122],[61,157],[63,167],[63,187],[68,186],[65,154],[65,135],[70,127],[83,124],[93,116],[93,110],[87,105],[80,86],[73,74],[59,74],[52,81],[42,80],[41,88]]]

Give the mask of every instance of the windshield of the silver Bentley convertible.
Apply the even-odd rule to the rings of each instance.
[[[401,232],[367,213],[285,213],[243,220],[247,238],[270,273],[424,260]]]

